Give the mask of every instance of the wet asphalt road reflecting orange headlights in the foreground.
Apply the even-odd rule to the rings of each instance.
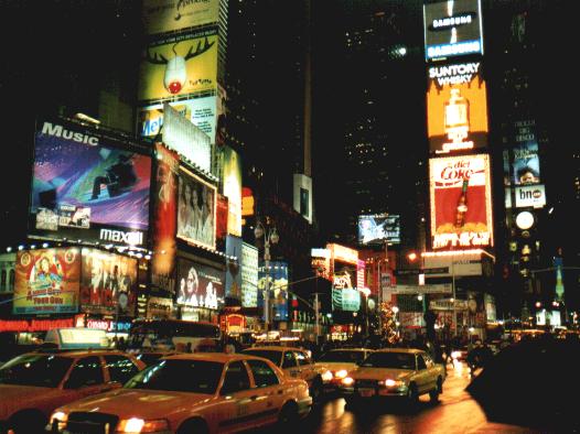
[[[525,423],[507,425],[488,422],[480,405],[465,392],[469,382],[469,371],[464,365],[455,369],[449,366],[440,401],[431,403],[428,395],[421,397],[415,410],[409,410],[404,403],[369,404],[356,410],[345,409],[342,398],[327,397],[300,423],[297,434],[552,432],[530,428],[525,426]],[[260,434],[271,432],[275,432],[275,428],[259,431]]]

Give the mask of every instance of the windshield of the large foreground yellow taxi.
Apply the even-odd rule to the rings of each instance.
[[[131,378],[127,389],[215,393],[224,364],[206,360],[161,360]]]

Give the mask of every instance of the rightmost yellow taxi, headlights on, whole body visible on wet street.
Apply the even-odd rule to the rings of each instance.
[[[438,401],[443,392],[445,369],[426,351],[410,348],[384,348],[370,354],[342,380],[341,391],[347,404],[375,397],[404,397],[409,403],[429,393]]]

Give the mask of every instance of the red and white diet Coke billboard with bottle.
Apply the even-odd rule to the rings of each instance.
[[[433,249],[493,246],[490,158],[429,160]]]

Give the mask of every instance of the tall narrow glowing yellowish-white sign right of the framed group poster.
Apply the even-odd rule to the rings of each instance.
[[[241,159],[229,147],[223,147],[224,196],[228,202],[227,231],[241,236]]]

